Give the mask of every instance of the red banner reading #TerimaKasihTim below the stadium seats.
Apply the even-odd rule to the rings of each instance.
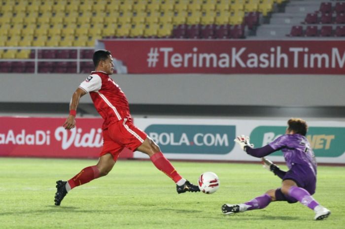
[[[344,40],[101,41],[123,73],[345,74]]]

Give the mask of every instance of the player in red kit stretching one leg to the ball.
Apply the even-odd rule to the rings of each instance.
[[[93,55],[93,62],[95,71],[91,72],[91,75],[73,93],[69,104],[69,116],[63,126],[67,130],[75,127],[79,99],[90,93],[96,110],[104,119],[103,149],[96,165],[83,168],[68,181],[56,182],[55,205],[60,205],[71,189],[108,174],[125,147],[147,154],[159,170],[173,179],[178,194],[200,192],[198,186],[191,184],[177,173],[159,146],[145,132],[133,125],[128,100],[109,76],[114,71],[111,53],[107,50],[98,50]]]

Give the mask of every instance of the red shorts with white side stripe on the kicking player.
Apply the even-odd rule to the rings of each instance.
[[[103,130],[103,149],[100,157],[110,153],[116,162],[124,148],[135,151],[146,139],[147,134],[138,129],[131,120],[123,119]]]

